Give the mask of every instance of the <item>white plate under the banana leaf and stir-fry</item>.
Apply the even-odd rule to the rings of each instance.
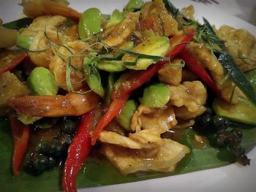
[[[127,0],[128,1],[128,0]],[[104,13],[111,13],[113,9],[122,9],[127,3],[126,0],[112,1],[79,1],[71,0],[70,6],[80,12],[89,7],[98,7]],[[1,1],[0,18],[5,23],[21,17],[22,9],[18,6],[18,0]],[[210,23],[217,27],[222,24],[228,24],[235,28],[245,28],[256,36],[256,28],[244,20],[227,15],[211,6],[195,3],[188,0],[174,0],[176,7],[184,7],[189,4],[195,6],[195,18],[202,17],[208,19]],[[231,164],[217,169],[208,169],[200,172],[192,172],[189,174],[181,174],[171,177],[164,177],[153,180],[140,181],[135,183],[108,185],[98,188],[80,189],[80,192],[155,192],[155,191],[232,191],[232,192],[249,192],[256,191],[256,147],[252,150],[248,157],[252,159],[250,166],[240,166]]]

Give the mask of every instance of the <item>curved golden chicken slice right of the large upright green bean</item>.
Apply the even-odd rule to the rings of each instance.
[[[136,24],[139,20],[138,12],[127,12],[126,18],[116,26],[107,28],[105,31],[105,44],[110,47],[116,47],[131,37],[135,31]]]

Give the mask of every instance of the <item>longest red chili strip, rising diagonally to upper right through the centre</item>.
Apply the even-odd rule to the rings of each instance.
[[[167,57],[174,58],[186,46],[186,43],[193,39],[195,29],[187,29],[185,32],[185,34],[170,39],[170,50],[166,54]],[[166,63],[167,61],[159,61],[157,64],[148,67],[148,69],[144,71],[127,72],[127,74],[124,74],[121,79],[118,80],[112,91],[112,103],[110,104],[108,111],[105,112],[105,115],[99,120],[97,128],[94,131],[91,140],[92,145],[96,143],[103,128],[107,126],[113,118],[118,116],[119,112],[126,104],[130,93],[150,80],[151,77],[158,72],[160,67]]]

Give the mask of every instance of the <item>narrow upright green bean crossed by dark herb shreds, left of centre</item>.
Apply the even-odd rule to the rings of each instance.
[[[86,82],[94,93],[104,96],[104,88],[102,87],[99,69],[97,68],[97,58],[86,57],[83,59],[83,71]]]

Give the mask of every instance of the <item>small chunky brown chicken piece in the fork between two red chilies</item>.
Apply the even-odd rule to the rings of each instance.
[[[176,66],[181,64],[181,60],[175,59],[171,64],[165,64],[158,71],[159,80],[169,85],[178,85],[181,83],[182,67]]]

